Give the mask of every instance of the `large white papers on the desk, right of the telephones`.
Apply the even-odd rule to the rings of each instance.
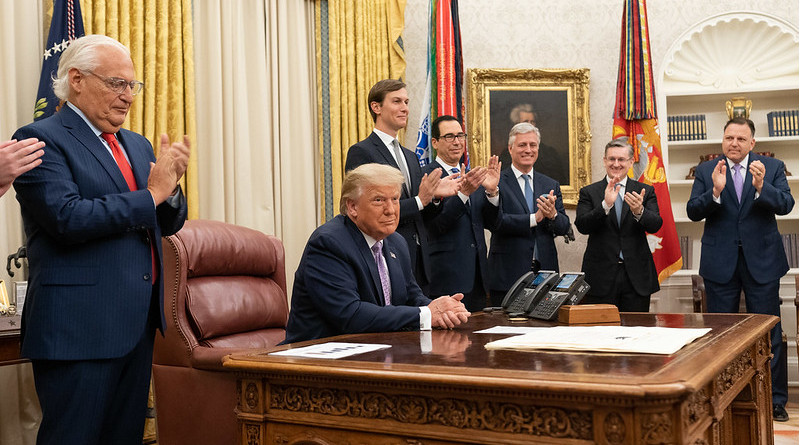
[[[486,344],[486,349],[673,354],[711,328],[649,326],[555,326]]]

